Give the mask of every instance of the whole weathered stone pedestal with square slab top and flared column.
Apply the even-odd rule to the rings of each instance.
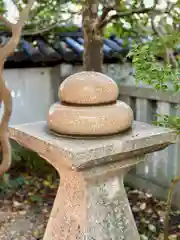
[[[123,185],[146,154],[176,141],[174,131],[134,122],[132,129],[94,140],[59,138],[45,122],[10,128],[10,137],[37,152],[60,174],[44,240],[139,240]]]

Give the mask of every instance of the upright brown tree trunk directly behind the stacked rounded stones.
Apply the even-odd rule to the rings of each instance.
[[[85,71],[102,72],[103,68],[103,30],[98,28],[97,22],[97,0],[86,0],[83,6],[83,68]]]

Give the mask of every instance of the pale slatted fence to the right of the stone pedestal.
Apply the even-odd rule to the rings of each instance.
[[[180,103],[180,94],[158,93],[146,87],[126,84],[122,84],[120,94],[120,99],[133,108],[136,120],[152,123],[158,120],[157,114],[180,116],[180,110],[177,108]],[[136,174],[136,177],[142,180],[142,187],[146,188],[148,181],[161,186],[161,190],[155,187],[156,195],[166,195],[167,192],[163,193],[163,189],[166,190],[170,181],[180,175],[180,143],[150,155],[149,161],[139,165],[132,174]],[[137,181],[137,178],[130,179],[130,181]],[[143,183],[143,180],[146,180],[146,183]],[[138,185],[141,185],[140,182]],[[178,198],[177,193],[175,197]]]

